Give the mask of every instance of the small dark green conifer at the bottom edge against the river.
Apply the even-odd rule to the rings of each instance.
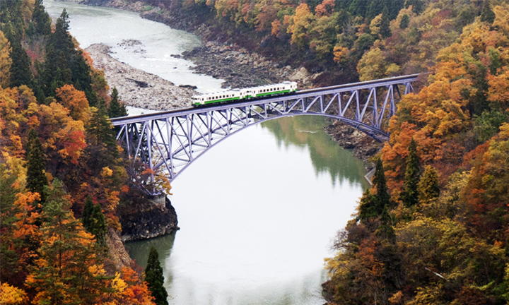
[[[158,305],[168,305],[168,292],[164,287],[163,268],[160,266],[159,253],[154,246],[148,253],[145,281],[152,296],[156,298],[154,302]]]

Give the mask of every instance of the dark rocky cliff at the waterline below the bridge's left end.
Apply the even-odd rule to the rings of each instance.
[[[157,202],[144,194],[131,195],[117,209],[122,241],[151,239],[179,229],[177,213],[168,198],[164,196]]]

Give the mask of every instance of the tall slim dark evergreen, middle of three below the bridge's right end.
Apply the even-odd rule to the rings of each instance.
[[[417,191],[419,179],[421,179],[421,169],[419,168],[419,157],[417,157],[417,145],[412,138],[409,146],[409,154],[406,157],[404,189],[401,194],[401,199],[406,207],[411,207],[419,203],[419,193]]]

